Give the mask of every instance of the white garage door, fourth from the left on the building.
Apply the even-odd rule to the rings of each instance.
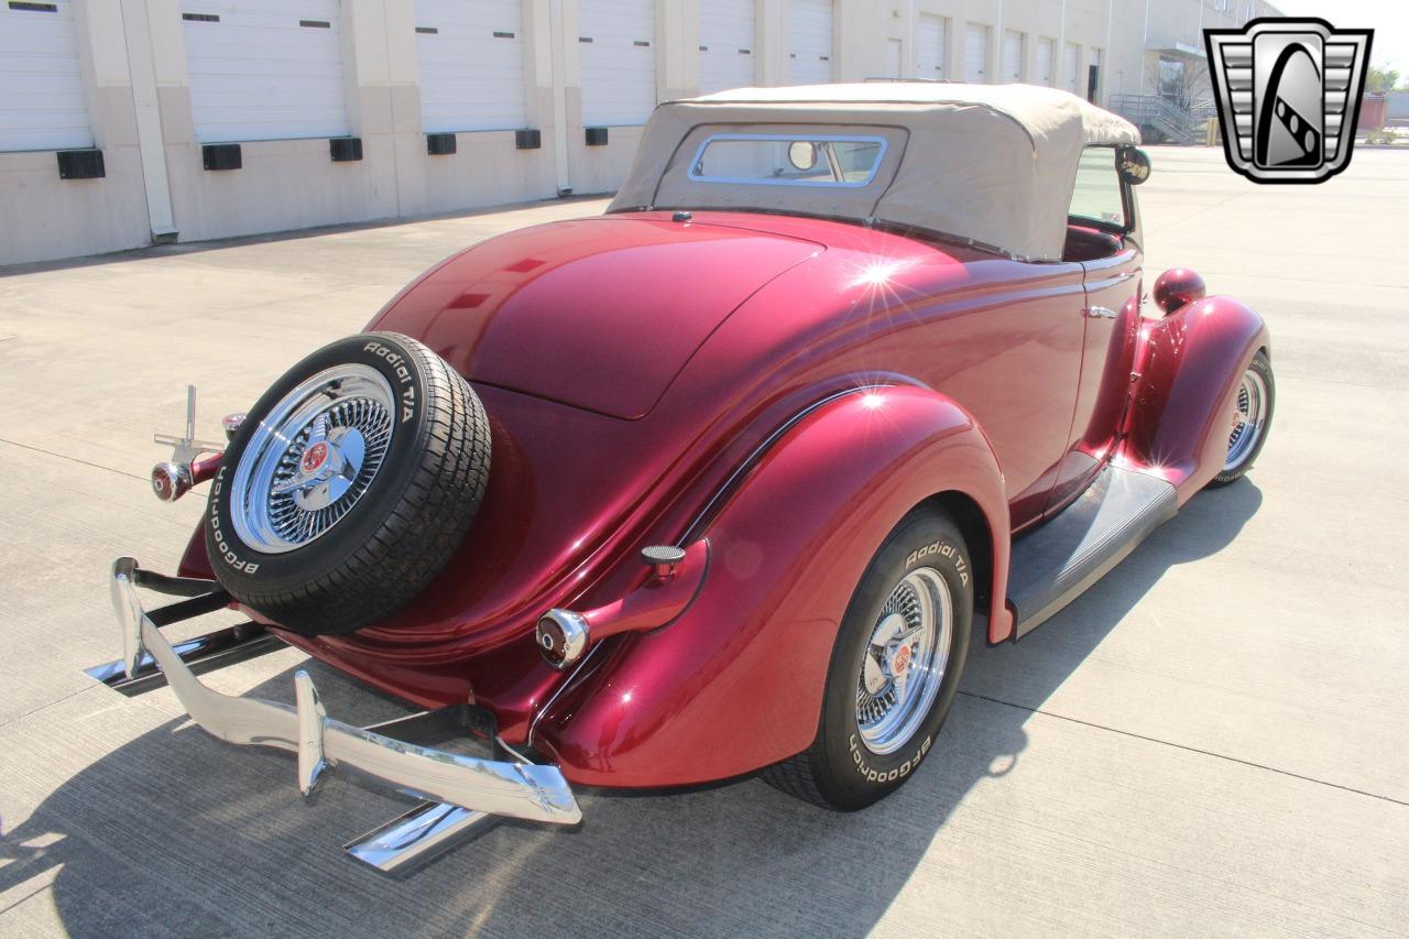
[[[585,127],[644,124],[655,110],[655,0],[579,0]]]

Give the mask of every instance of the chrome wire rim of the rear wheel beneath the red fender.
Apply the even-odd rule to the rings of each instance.
[[[948,582],[933,567],[910,571],[881,608],[857,675],[857,730],[871,753],[895,753],[924,723],[952,643]]]

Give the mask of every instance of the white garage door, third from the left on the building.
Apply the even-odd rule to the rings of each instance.
[[[416,0],[427,131],[528,125],[521,0]]]

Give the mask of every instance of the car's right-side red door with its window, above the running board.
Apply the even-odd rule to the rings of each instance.
[[[1124,415],[1140,329],[1143,255],[1134,199],[1116,172],[1116,148],[1088,147],[1068,214],[1085,271],[1081,376],[1071,433],[1047,503],[1060,512],[1110,460]]]

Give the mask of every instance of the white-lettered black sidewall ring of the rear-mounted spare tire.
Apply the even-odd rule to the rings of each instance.
[[[325,575],[385,526],[406,496],[411,470],[424,454],[430,424],[428,376],[421,357],[406,345],[407,341],[396,333],[364,333],[330,343],[285,372],[249,409],[211,482],[203,520],[211,568],[227,589],[287,589]],[[396,413],[386,458],[352,510],[317,540],[282,553],[259,551],[245,544],[232,524],[235,470],[259,422],[300,383],[338,365],[366,365],[390,385]]]

